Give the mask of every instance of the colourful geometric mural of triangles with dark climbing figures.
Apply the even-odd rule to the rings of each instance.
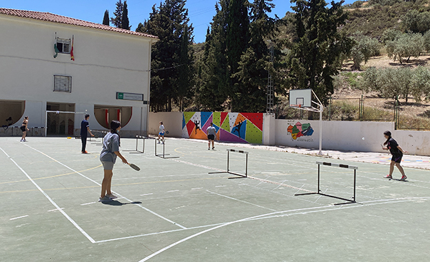
[[[183,112],[182,137],[207,139],[211,122],[218,141],[263,143],[263,113]]]

